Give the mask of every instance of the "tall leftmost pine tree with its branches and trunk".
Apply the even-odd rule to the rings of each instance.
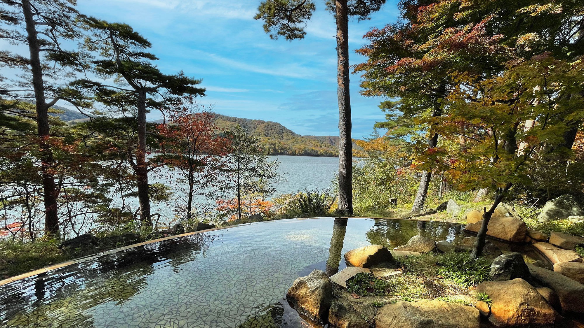
[[[0,37],[15,46],[25,46],[28,53],[2,51],[0,62],[16,70],[16,78],[1,87],[6,97],[36,104],[37,144],[43,182],[45,232],[59,237],[51,124],[48,111],[62,100],[78,108],[89,106],[79,92],[64,81],[86,67],[85,54],[68,50],[81,37],[76,24],[75,0],[5,0],[0,15]]]

